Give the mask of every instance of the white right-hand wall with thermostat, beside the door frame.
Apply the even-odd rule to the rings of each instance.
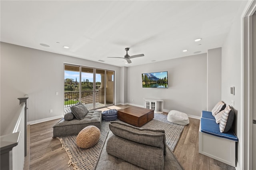
[[[242,73],[242,20],[241,14],[244,10],[244,6],[248,3],[243,1],[241,8],[238,10],[237,15],[234,16],[233,24],[230,28],[230,32],[222,46],[222,100],[231,105],[231,101],[234,101],[234,111],[235,111],[235,121],[233,130],[236,133],[239,142],[236,144],[236,159],[238,161],[238,169],[244,169],[240,167],[241,162],[243,162],[243,134],[241,131],[243,113],[242,107],[242,87],[241,87],[241,73]],[[230,87],[235,87],[235,95],[230,94]],[[242,165],[241,165],[242,166]]]

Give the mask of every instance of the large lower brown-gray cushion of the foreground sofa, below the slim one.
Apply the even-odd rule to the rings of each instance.
[[[107,141],[106,151],[117,158],[147,170],[164,169],[164,150],[141,144],[112,134]]]

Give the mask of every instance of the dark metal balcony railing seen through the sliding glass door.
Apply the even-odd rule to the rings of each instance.
[[[81,100],[79,100],[79,91],[64,92],[64,107],[70,107],[81,101],[84,105],[93,103],[93,90],[81,91]],[[99,101],[99,93],[96,90],[95,102]]]

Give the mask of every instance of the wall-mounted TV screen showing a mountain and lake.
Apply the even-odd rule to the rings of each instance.
[[[168,88],[168,72],[142,73],[142,87]]]

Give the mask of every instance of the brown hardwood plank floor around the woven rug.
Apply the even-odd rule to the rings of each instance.
[[[117,105],[111,109],[124,109],[129,105]],[[104,109],[103,109],[104,110]],[[167,113],[164,113],[167,114]],[[24,170],[72,170],[68,167],[68,155],[57,138],[52,138],[52,126],[60,119],[28,125],[28,148]],[[189,118],[174,154],[185,170],[235,170],[234,167],[198,153],[198,129],[200,120]],[[29,153],[28,152],[28,153]]]

